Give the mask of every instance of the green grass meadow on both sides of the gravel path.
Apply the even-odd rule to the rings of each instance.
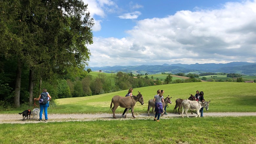
[[[158,89],[170,95],[172,104],[167,108],[173,112],[175,99],[187,99],[196,90],[204,92],[205,100],[210,102],[208,112],[256,112],[256,83],[239,82],[196,82],[178,83],[136,88],[133,94],[141,92],[144,105],[135,106],[135,115],[146,113],[147,101],[153,99]],[[51,114],[112,113],[111,99],[115,95],[124,96],[125,91],[89,97],[55,99],[56,107],[50,107]],[[53,105],[53,104],[52,104]],[[19,109],[0,113],[17,114]],[[117,115],[123,108],[117,108]],[[95,121],[40,122],[24,124],[0,124],[0,143],[184,143],[184,144],[254,144],[256,141],[256,117],[173,117],[153,121],[124,118]]]

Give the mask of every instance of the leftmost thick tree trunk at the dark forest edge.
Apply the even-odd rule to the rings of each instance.
[[[21,83],[21,61],[18,58],[17,70],[16,70],[15,94],[14,94],[15,107],[20,107],[20,83]]]

